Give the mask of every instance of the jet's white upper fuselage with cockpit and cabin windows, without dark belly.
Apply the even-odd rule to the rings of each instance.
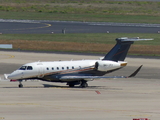
[[[65,75],[85,73],[94,70],[95,63],[98,63],[97,71],[107,72],[122,67],[122,63],[103,60],[78,60],[78,61],[54,61],[54,62],[33,62],[23,65],[18,70],[8,75],[8,79],[29,79],[44,78],[49,75]]]

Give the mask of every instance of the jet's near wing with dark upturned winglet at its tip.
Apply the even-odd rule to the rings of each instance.
[[[61,76],[60,80],[67,80],[67,79],[99,79],[99,78],[130,78],[136,76],[136,74],[140,71],[142,65],[131,75],[129,76],[81,76],[81,75],[70,75],[70,76]]]

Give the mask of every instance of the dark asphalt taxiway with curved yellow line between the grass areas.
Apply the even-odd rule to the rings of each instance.
[[[0,19],[2,34],[158,33],[160,24]]]

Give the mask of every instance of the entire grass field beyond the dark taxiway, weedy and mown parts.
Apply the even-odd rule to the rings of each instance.
[[[160,23],[160,2],[1,0],[3,19]]]

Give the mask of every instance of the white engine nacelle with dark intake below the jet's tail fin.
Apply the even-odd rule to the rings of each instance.
[[[95,69],[98,71],[108,71],[120,68],[121,64],[113,61],[97,61],[95,63]]]

